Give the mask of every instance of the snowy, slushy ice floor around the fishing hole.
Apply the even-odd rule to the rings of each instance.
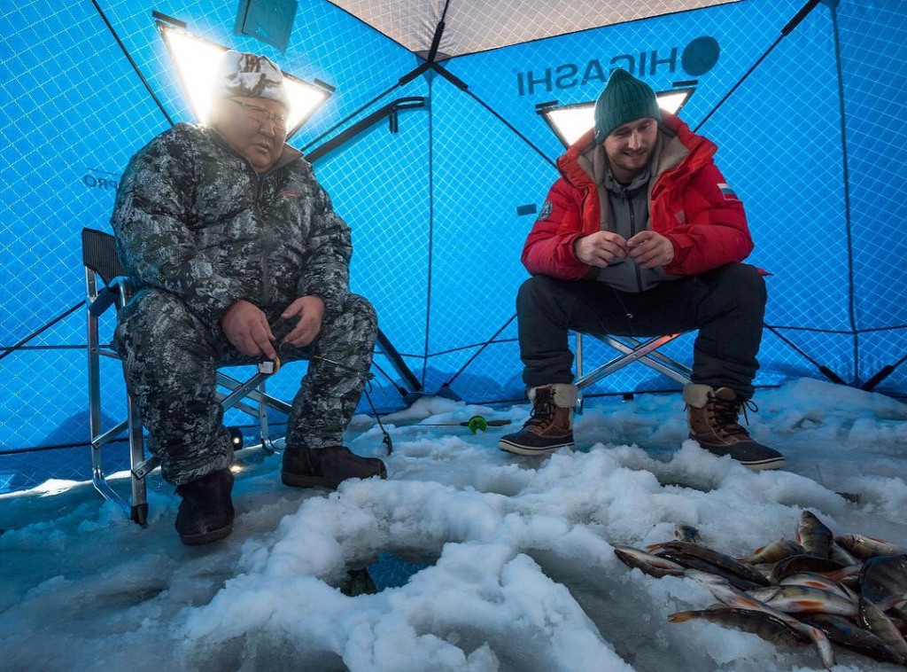
[[[179,499],[156,475],[147,529],[86,484],[2,496],[0,669],[819,669],[814,647],[669,623],[714,599],[613,552],[683,524],[744,556],[792,538],[804,509],[835,534],[907,545],[907,405],[816,380],[756,402],[751,433],[785,453],[783,471],[753,473],[686,440],[678,395],[590,400],[578,450],[543,460],[496,448],[528,406],[420,400],[384,420],[387,480],[300,491],[280,484],[278,457],[249,463],[235,531],[201,548],[180,544]],[[477,414],[513,424],[407,426]],[[381,455],[381,439],[356,417],[353,450]],[[362,568],[377,592],[349,587]],[[903,669],[835,656],[838,672]]]

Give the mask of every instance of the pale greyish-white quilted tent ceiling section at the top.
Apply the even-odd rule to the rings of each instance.
[[[441,60],[731,2],[738,0],[334,0],[333,4],[415,54],[431,49],[435,27],[443,18]]]

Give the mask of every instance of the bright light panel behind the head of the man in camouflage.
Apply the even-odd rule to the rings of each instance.
[[[176,25],[158,21],[158,28],[171,54],[183,92],[189,100],[192,112],[200,124],[208,121],[211,104],[211,89],[217,72],[220,55],[228,47],[192,35]],[[317,81],[317,80],[316,80]],[[307,119],[327,101],[333,89],[327,84],[308,84],[292,74],[284,73],[284,84],[290,99],[287,117],[287,137],[299,130]]]

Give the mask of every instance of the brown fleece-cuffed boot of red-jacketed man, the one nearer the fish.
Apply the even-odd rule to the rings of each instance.
[[[690,383],[684,386],[683,400],[687,402],[689,438],[704,449],[718,456],[730,455],[754,471],[785,466],[781,453],[756,443],[737,421],[747,400],[736,391]]]

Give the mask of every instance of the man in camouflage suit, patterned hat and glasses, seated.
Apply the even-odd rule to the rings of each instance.
[[[219,366],[273,360],[278,349],[281,360],[311,355],[288,423],[287,485],[386,476],[381,460],[341,445],[371,365],[375,311],[349,292],[349,227],[285,143],[288,109],[275,64],[228,52],[208,124],[154,138],[117,193],[112,226],[137,292],[116,340],[190,545],[232,530]]]

